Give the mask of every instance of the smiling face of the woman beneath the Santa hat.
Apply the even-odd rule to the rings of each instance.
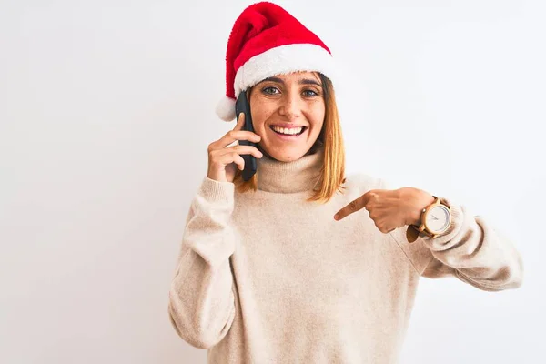
[[[266,78],[252,87],[248,99],[259,147],[270,157],[297,160],[317,141],[326,110],[318,74]]]

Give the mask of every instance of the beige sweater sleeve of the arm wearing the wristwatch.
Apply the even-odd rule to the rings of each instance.
[[[379,186],[394,189],[383,179]],[[486,291],[520,287],[523,263],[511,239],[464,205],[441,198],[451,207],[450,227],[443,235],[409,243],[407,226],[389,233],[417,272],[426,278],[456,277]]]

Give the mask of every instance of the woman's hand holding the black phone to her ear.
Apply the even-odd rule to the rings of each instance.
[[[233,182],[237,168],[245,168],[245,160],[241,155],[251,154],[261,158],[263,154],[257,147],[239,146],[238,144],[227,147],[235,141],[248,140],[258,143],[260,136],[251,131],[242,130],[245,125],[245,114],[239,114],[237,125],[215,142],[208,146],[208,172],[207,177],[218,182]]]

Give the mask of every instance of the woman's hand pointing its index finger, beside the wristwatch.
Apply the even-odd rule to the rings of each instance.
[[[419,188],[372,189],[341,208],[334,218],[339,221],[366,208],[379,231],[389,233],[405,225],[420,225],[422,209],[432,202],[434,197]]]

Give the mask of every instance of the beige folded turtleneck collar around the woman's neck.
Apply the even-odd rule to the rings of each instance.
[[[314,147],[292,162],[280,162],[268,157],[257,158],[258,189],[276,193],[296,193],[317,186],[324,164],[324,147]]]

